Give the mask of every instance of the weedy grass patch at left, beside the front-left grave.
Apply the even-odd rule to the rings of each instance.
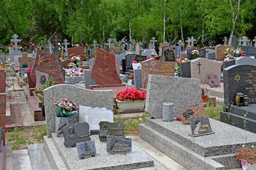
[[[43,143],[47,135],[46,126],[15,128],[6,132],[6,142],[12,142],[12,150],[26,149],[29,144]]]

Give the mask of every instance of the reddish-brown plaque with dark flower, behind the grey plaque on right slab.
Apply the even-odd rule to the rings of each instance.
[[[184,108],[180,112],[182,124],[188,124],[190,118],[204,116],[204,105]]]

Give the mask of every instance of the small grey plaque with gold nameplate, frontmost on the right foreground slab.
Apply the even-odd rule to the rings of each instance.
[[[189,134],[189,136],[197,137],[214,133],[212,132],[209,118],[207,116],[193,117],[189,119],[189,124],[192,131],[192,134]]]

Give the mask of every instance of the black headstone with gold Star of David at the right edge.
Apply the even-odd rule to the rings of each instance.
[[[224,83],[224,104],[233,103],[237,93],[242,93],[249,97],[249,105],[256,104],[256,93],[254,87],[254,77],[256,74],[255,65],[232,65],[223,69]]]

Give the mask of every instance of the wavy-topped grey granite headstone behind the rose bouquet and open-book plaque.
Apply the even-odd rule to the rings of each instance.
[[[56,107],[53,102],[61,99],[70,98],[79,105],[89,107],[107,108],[113,111],[113,91],[96,91],[79,88],[74,85],[53,85],[44,89],[44,107],[46,114],[47,135],[55,132],[55,113]],[[79,122],[79,114],[69,118],[69,124]]]

